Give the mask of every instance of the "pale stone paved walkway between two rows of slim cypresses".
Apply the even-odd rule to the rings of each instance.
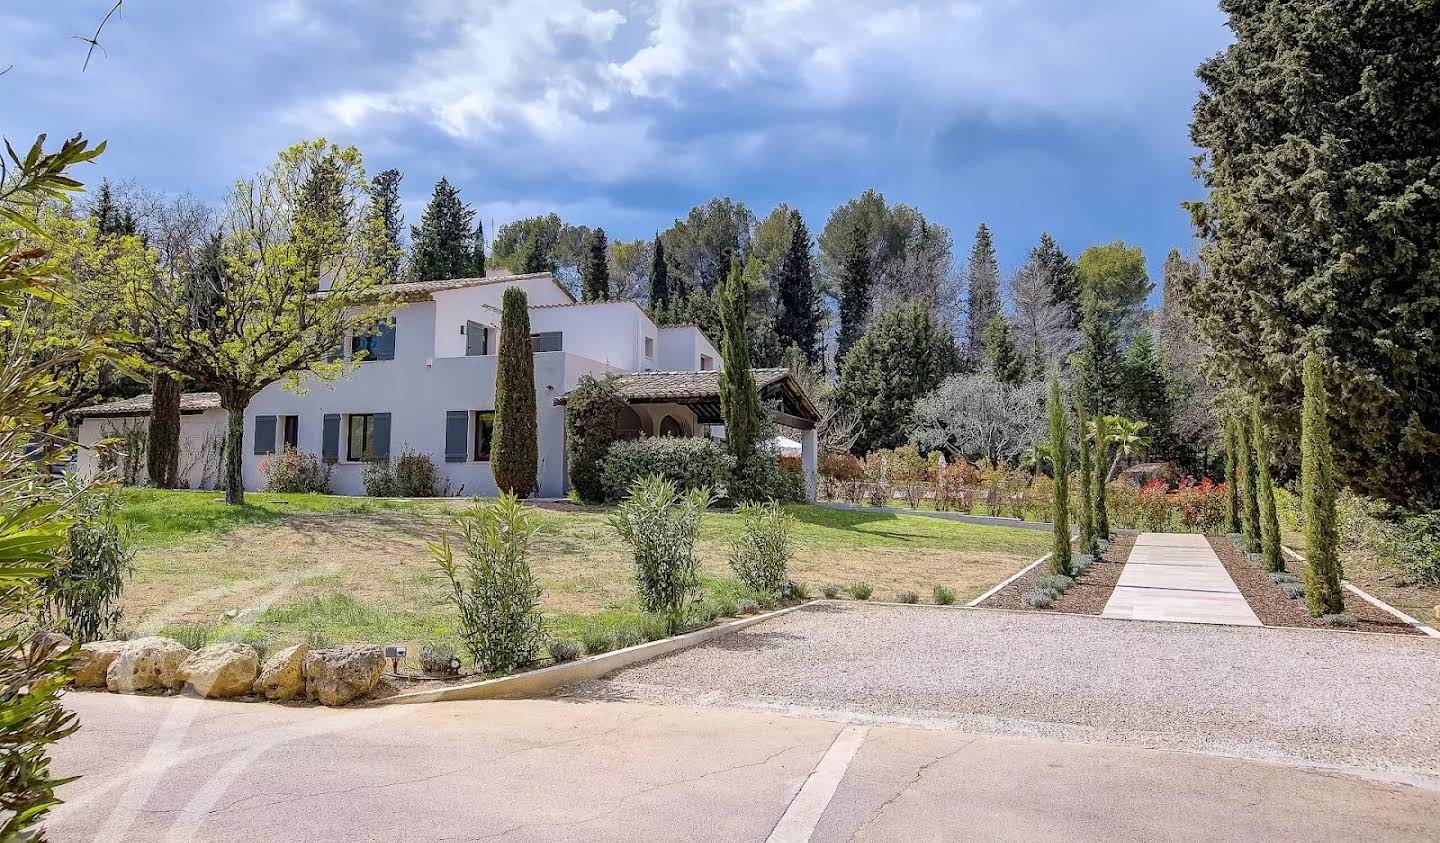
[[[1140,533],[1100,614],[1140,621],[1260,625],[1210,542],[1195,533]]]

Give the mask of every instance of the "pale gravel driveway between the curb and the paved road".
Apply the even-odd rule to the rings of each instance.
[[[819,602],[562,690],[1289,761],[1440,788],[1440,641]]]

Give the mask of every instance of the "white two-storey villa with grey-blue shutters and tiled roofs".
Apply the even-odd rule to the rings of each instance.
[[[564,465],[564,395],[582,375],[621,373],[629,408],[624,437],[723,435],[719,405],[720,353],[694,326],[657,327],[632,301],[577,303],[549,272],[395,284],[403,304],[395,327],[357,336],[347,356],[369,354],[356,372],[314,380],[304,395],[274,383],[245,414],[246,490],[264,490],[262,461],[287,447],[334,463],[331,491],[364,494],[366,460],[409,448],[429,454],[449,494],[494,494],[490,434],[494,418],[500,300],[510,288],[530,303],[540,445],[537,496],[569,491]],[[816,412],[783,369],[757,369],[770,416],[801,441],[806,489],[815,494]],[[82,474],[96,468],[89,447],[143,427],[150,396],[75,411]],[[213,487],[225,411],[215,393],[187,393],[181,403],[181,478]],[[143,473],[141,473],[143,474]]]

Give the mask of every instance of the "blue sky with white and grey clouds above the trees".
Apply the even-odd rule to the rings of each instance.
[[[0,9],[0,133],[107,138],[84,177],[219,200],[282,146],[353,143],[445,174],[491,223],[556,210],[649,236],[716,195],[818,233],[865,187],[1001,264],[1041,231],[1125,239],[1156,275],[1194,242],[1194,68],[1214,0],[111,0]]]

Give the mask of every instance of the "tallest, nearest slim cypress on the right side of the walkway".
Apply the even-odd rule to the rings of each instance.
[[[1300,490],[1306,545],[1305,602],[1312,615],[1345,611],[1328,403],[1320,357],[1310,352],[1305,356],[1305,405],[1300,412]]]

